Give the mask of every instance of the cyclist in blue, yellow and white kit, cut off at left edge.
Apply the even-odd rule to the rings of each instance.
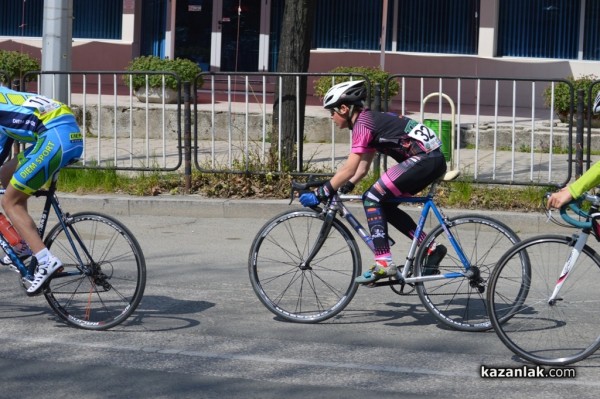
[[[29,145],[7,159],[13,142]],[[0,87],[0,182],[6,188],[2,208],[23,238],[15,247],[22,257],[34,255],[37,268],[28,295],[62,267],[62,262],[45,247],[35,222],[27,211],[27,200],[83,152],[82,135],[72,111],[56,100]],[[26,245],[25,245],[26,244]],[[5,257],[4,264],[10,263]]]

